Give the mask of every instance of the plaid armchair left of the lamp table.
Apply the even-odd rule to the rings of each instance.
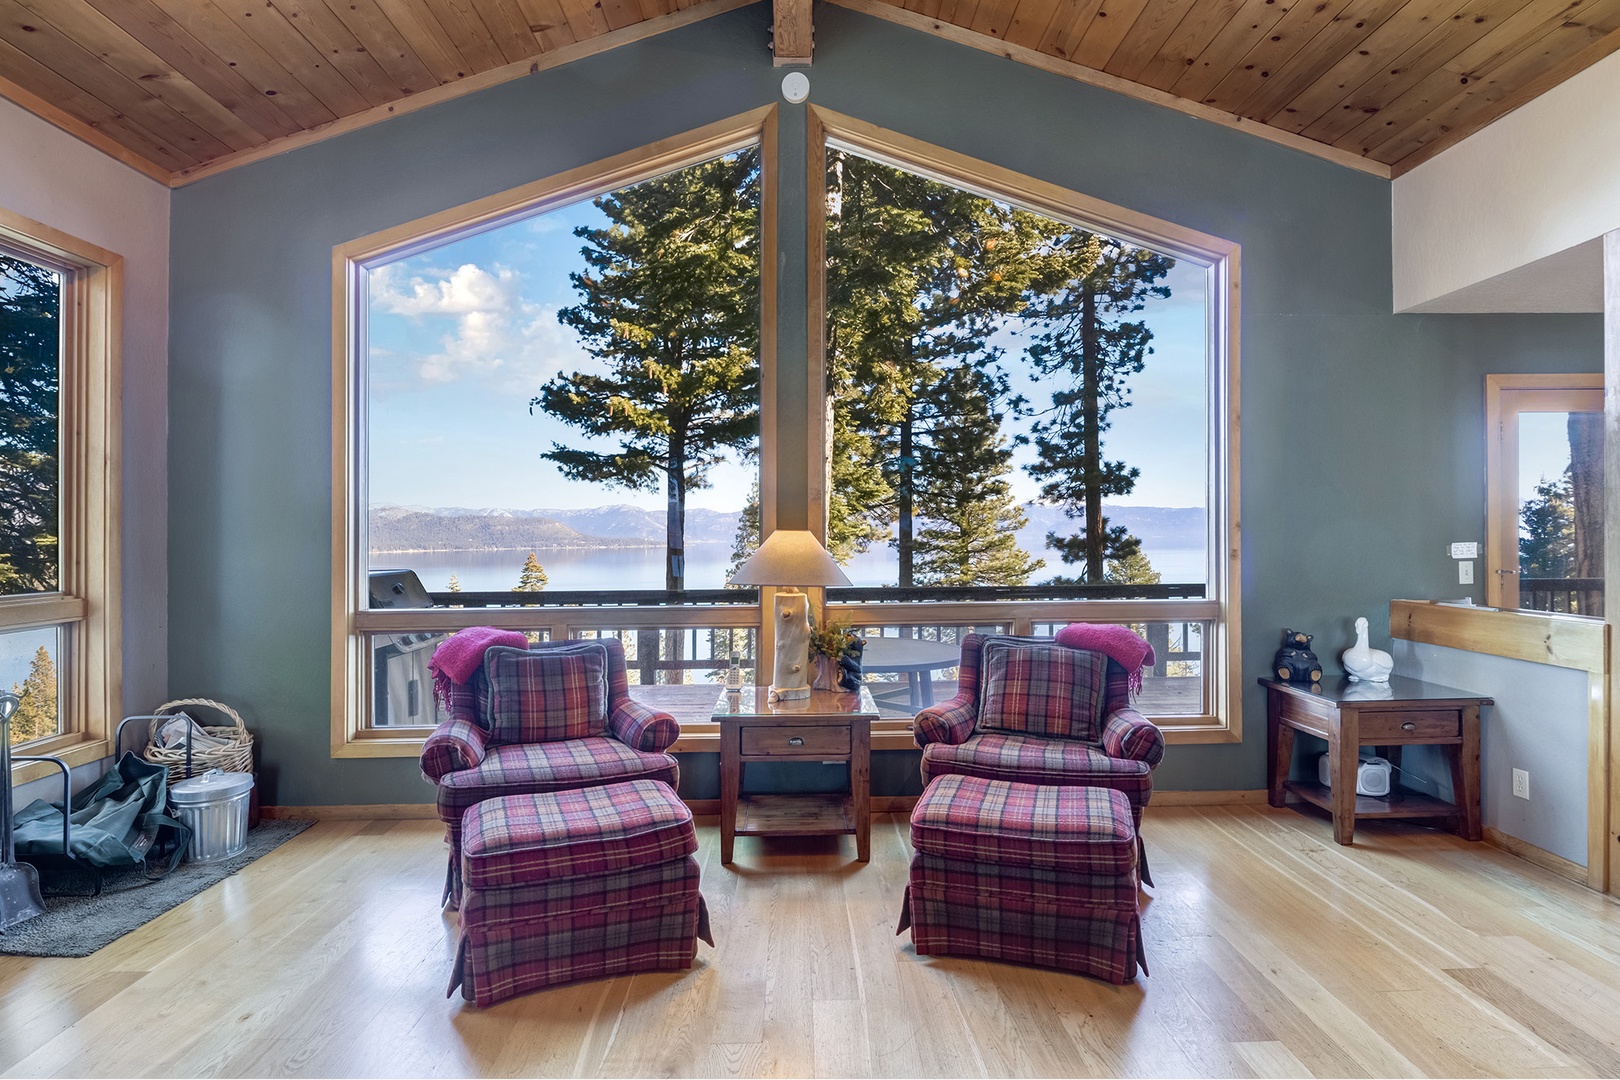
[[[606,651],[606,722],[599,730],[582,719],[588,712],[586,695],[573,669],[552,674],[549,682],[497,674],[492,685],[486,662],[465,683],[452,685],[444,703],[450,719],[439,724],[421,748],[421,774],[439,789],[439,819],[450,842],[444,895],[452,905],[462,900],[462,814],[468,806],[502,795],[622,780],[680,784],[680,766],[664,753],[680,735],[680,725],[669,712],[630,699],[619,640],[539,641],[530,646],[530,654],[549,651],[598,662],[598,646]],[[523,656],[517,649],[507,653]],[[549,716],[536,716],[536,703],[546,703],[541,699],[549,699]],[[514,738],[514,733],[523,737]]]

